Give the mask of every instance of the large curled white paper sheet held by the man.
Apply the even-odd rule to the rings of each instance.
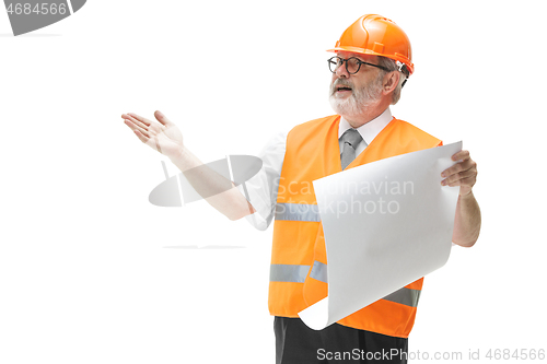
[[[299,313],[321,330],[444,266],[459,187],[441,186],[462,142],[314,180],[328,296]]]

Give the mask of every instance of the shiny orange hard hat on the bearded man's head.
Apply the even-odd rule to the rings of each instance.
[[[403,30],[387,17],[366,14],[342,33],[340,40],[328,51],[352,51],[374,55],[399,61],[399,70],[414,72],[410,40]]]

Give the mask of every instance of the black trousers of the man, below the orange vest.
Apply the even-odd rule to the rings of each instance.
[[[277,364],[407,363],[408,339],[404,338],[338,324],[315,331],[300,318],[277,316],[274,331]]]

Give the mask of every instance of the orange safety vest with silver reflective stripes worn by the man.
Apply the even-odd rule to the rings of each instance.
[[[334,115],[293,128],[279,181],[271,253],[269,310],[274,316],[298,313],[327,296],[327,256],[312,181],[341,172],[338,124]],[[441,145],[442,142],[393,119],[347,167]],[[416,317],[423,278],[379,300],[338,324],[407,338]]]

